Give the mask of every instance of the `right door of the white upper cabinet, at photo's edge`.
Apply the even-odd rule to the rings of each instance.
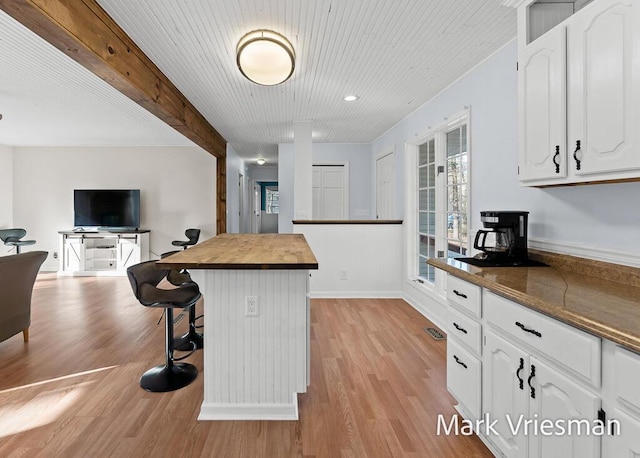
[[[638,10],[637,0],[599,0],[567,26],[570,174],[615,179],[640,169]]]

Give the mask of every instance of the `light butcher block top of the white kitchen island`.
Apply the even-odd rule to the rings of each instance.
[[[220,234],[157,262],[166,269],[317,269],[302,234]]]

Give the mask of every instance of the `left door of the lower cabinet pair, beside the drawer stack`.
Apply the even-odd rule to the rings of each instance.
[[[497,420],[494,429],[499,434],[489,439],[506,457],[524,457],[527,454],[527,437],[522,430],[515,431],[511,426],[527,414],[529,357],[488,331],[482,366],[482,410],[492,421]]]

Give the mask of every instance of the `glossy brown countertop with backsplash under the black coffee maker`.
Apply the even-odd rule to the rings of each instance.
[[[640,269],[530,250],[546,267],[428,263],[538,312],[640,353]]]

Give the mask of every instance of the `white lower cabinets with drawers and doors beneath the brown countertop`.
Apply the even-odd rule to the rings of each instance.
[[[640,354],[451,278],[447,388],[496,456],[640,458]]]

